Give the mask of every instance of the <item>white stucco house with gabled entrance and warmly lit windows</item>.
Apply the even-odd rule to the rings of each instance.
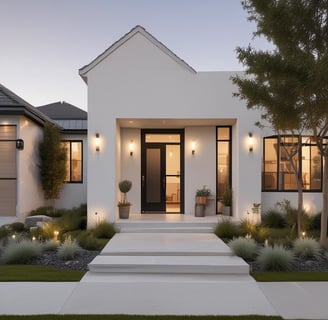
[[[222,213],[227,188],[232,189],[235,220],[252,214],[253,203],[261,203],[262,211],[283,199],[296,204],[296,181],[277,137],[257,128],[260,113],[233,97],[237,88],[231,76],[236,72],[198,72],[136,26],[79,74],[87,84],[87,119],[74,119],[67,110],[59,117],[17,96],[10,105],[5,99],[13,94],[0,90],[0,148],[9,138],[25,142],[24,150],[13,144],[11,160],[0,151],[0,190],[11,188],[17,216],[43,201],[35,146],[45,121],[62,128],[72,150],[80,148],[83,178],[68,181],[57,205],[87,202],[89,227],[99,219],[118,220],[118,183],[123,179],[133,183],[128,200],[131,213],[139,215],[194,216],[195,193],[204,185],[211,190],[206,215]],[[14,112],[17,103],[19,112]],[[10,137],[9,125],[15,126]],[[298,161],[305,207],[316,213],[322,203],[322,159],[308,141],[304,138]],[[13,163],[12,171],[4,167],[7,162]],[[7,191],[0,191],[0,198],[8,201]]]

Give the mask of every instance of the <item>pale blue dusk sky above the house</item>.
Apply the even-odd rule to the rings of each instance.
[[[240,0],[0,0],[0,83],[34,106],[87,109],[78,69],[141,25],[197,71],[242,70],[255,26]]]

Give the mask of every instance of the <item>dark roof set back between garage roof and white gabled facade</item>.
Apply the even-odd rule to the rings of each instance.
[[[86,133],[88,113],[65,101],[50,103],[38,107],[40,111],[53,119],[66,133]]]

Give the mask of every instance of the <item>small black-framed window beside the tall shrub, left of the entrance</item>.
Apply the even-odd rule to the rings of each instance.
[[[67,175],[65,182],[83,182],[83,141],[63,141],[66,148]]]

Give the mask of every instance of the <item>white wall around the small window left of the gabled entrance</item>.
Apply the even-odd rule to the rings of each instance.
[[[88,164],[88,141],[86,134],[71,134],[64,135],[63,140],[72,140],[83,142],[82,153],[82,170],[83,170],[83,182],[82,183],[65,183],[60,194],[60,198],[56,199],[56,208],[71,209],[73,207],[79,207],[81,204],[87,202],[87,164]]]

